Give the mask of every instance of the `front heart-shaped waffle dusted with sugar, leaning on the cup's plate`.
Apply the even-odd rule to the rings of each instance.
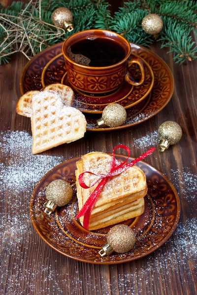
[[[80,139],[86,132],[85,116],[50,91],[33,96],[31,119],[33,154]]]

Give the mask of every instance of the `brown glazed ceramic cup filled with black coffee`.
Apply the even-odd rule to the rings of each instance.
[[[71,86],[91,95],[108,95],[123,81],[140,85],[144,81],[143,61],[130,58],[130,43],[121,35],[102,29],[90,29],[71,35],[63,44],[67,78]],[[129,68],[137,63],[140,81]]]

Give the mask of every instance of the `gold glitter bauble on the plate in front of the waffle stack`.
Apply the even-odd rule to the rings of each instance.
[[[99,251],[100,256],[110,255],[113,251],[125,253],[130,251],[135,243],[135,234],[128,225],[119,224],[110,229],[107,243]]]

